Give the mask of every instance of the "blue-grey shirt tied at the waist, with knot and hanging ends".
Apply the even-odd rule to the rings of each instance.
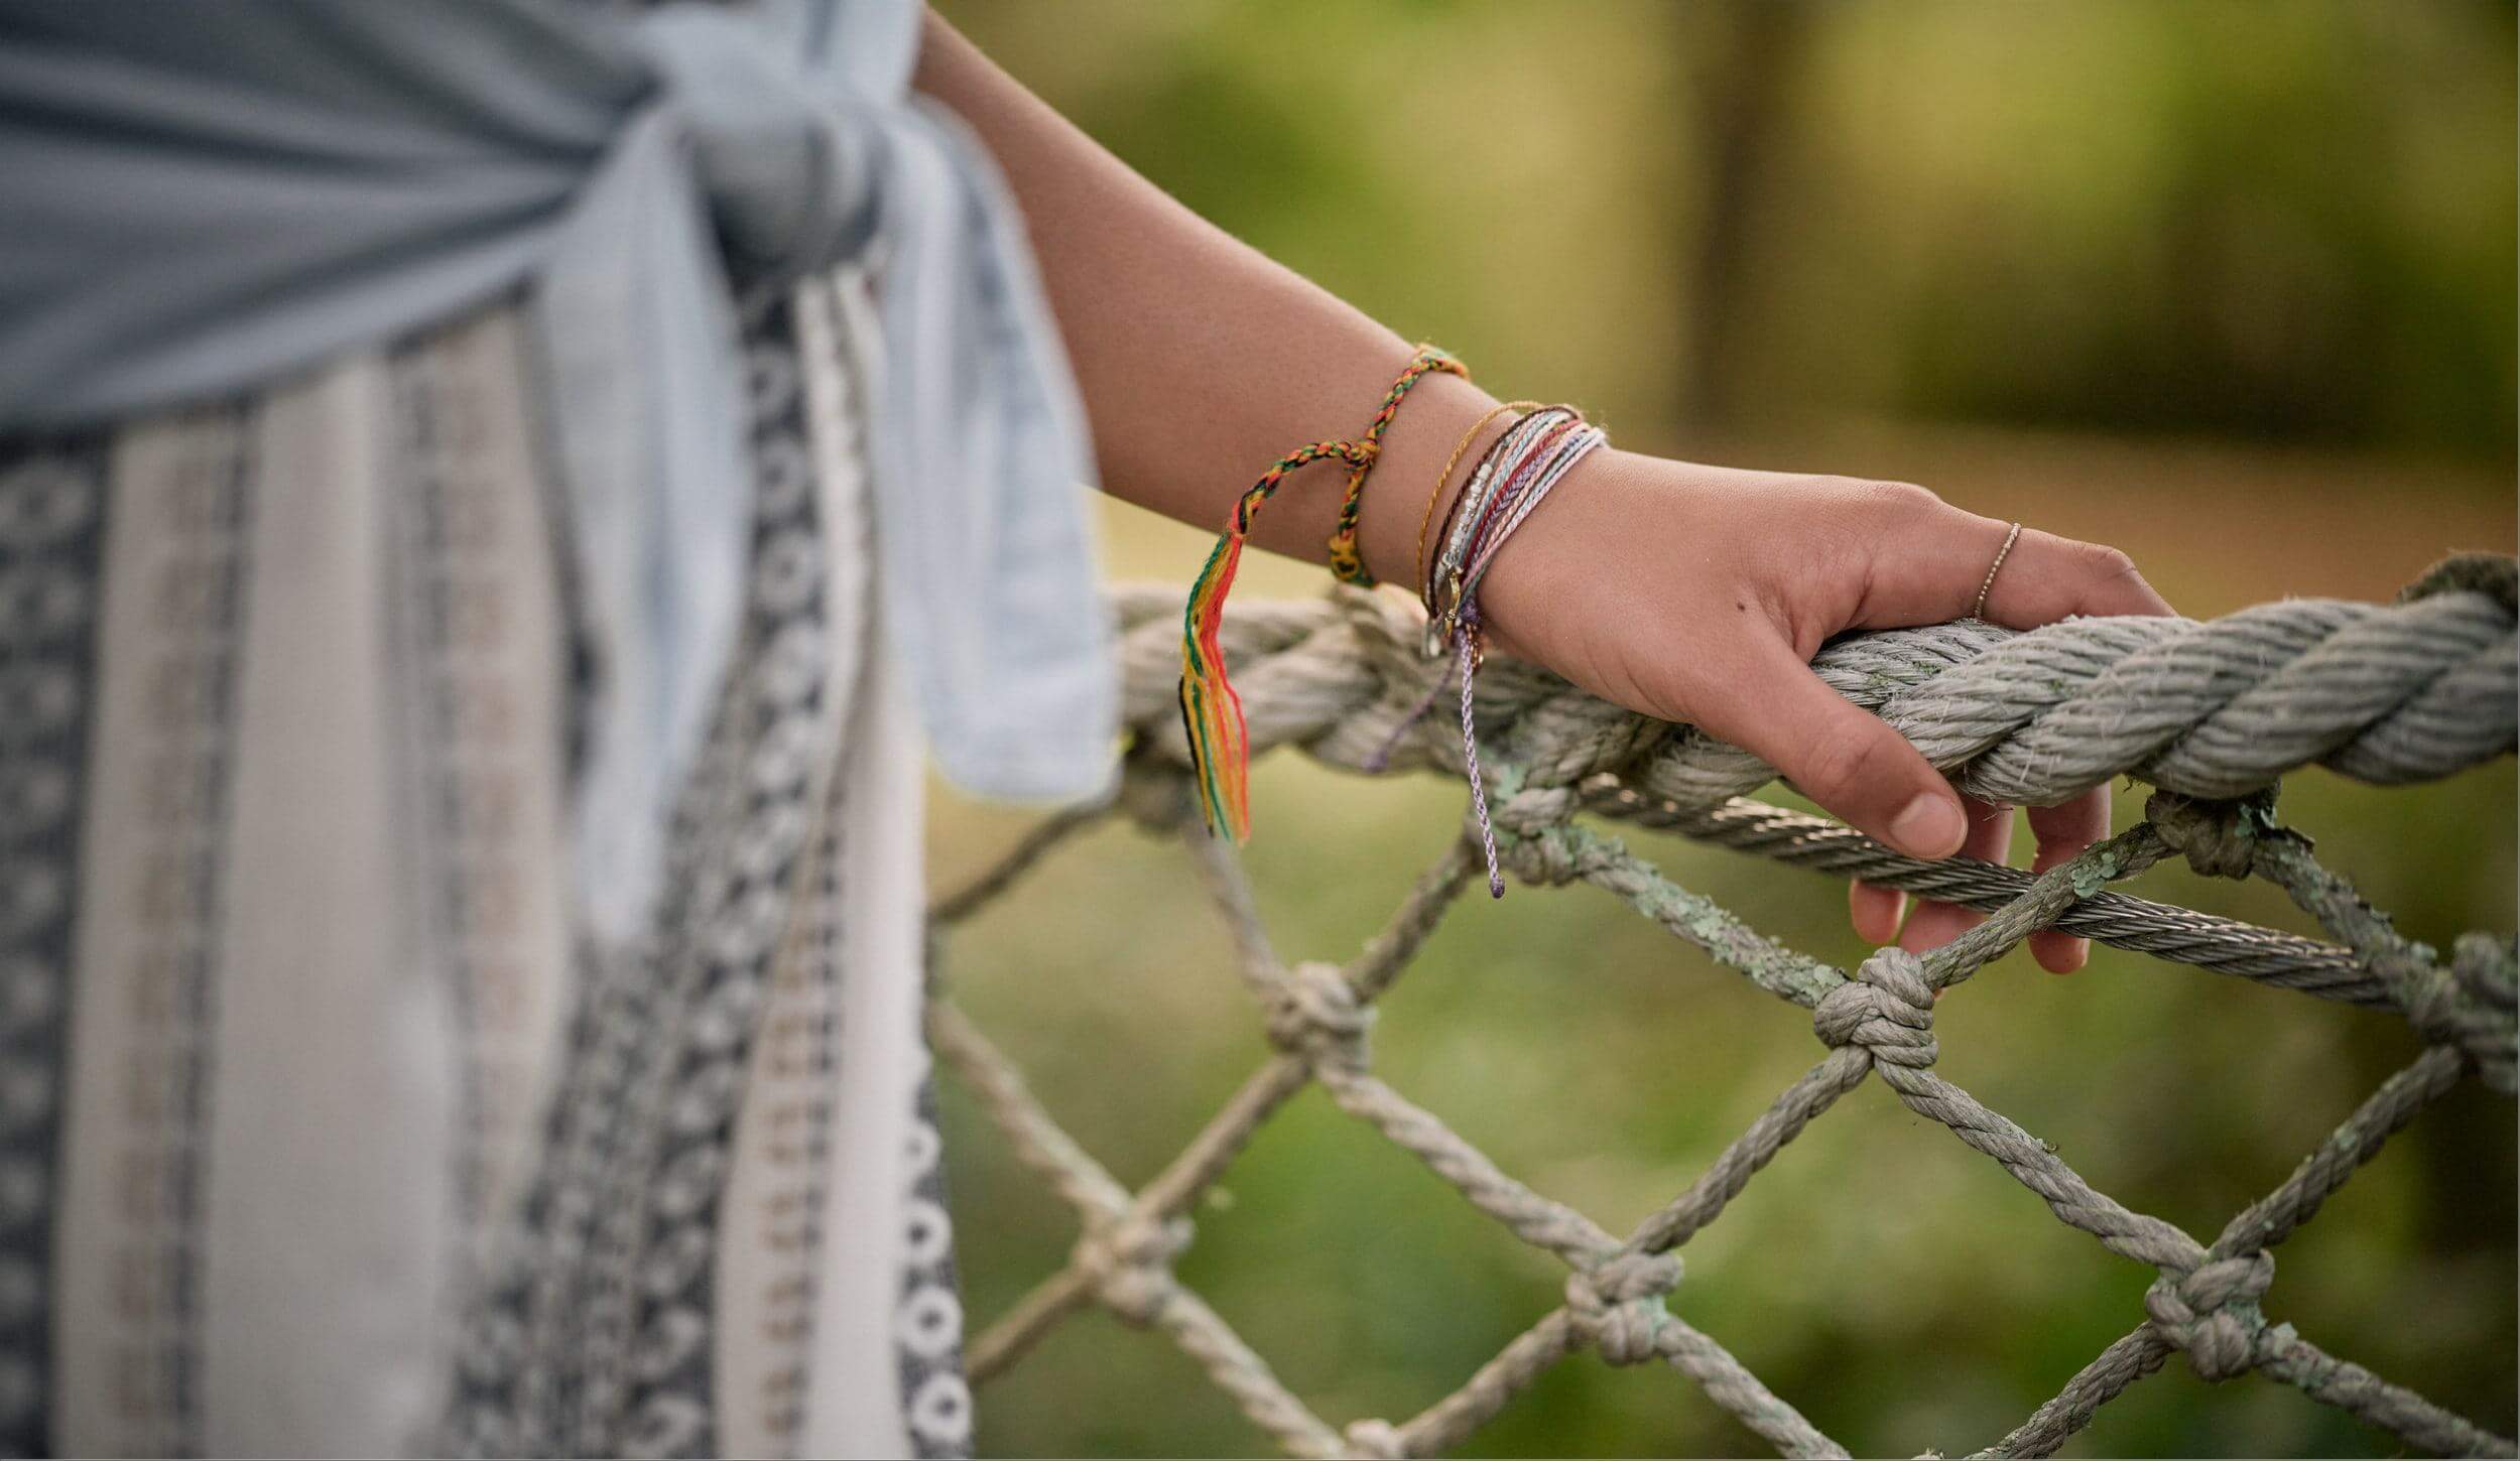
[[[625,937],[738,622],[733,292],[874,259],[882,610],[940,768],[1089,796],[1084,413],[915,0],[0,5],[0,431],[267,385],[527,290],[597,647],[580,897]]]

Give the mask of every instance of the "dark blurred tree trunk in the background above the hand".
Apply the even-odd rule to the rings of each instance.
[[[1681,340],[1681,421],[1691,426],[1741,416],[1739,383],[1754,320],[1749,252],[1809,25],[1802,0],[1724,0],[1693,8],[1681,28],[1698,78],[1696,154],[1704,159]]]

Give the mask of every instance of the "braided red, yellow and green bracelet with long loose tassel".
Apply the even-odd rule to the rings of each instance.
[[[1348,491],[1338,504],[1338,524],[1331,529],[1331,572],[1341,582],[1371,584],[1373,574],[1366,572],[1363,557],[1356,552],[1366,476],[1383,451],[1383,431],[1391,428],[1401,398],[1431,370],[1469,378],[1469,370],[1444,350],[1419,345],[1361,436],[1300,446],[1280,456],[1250,491],[1235,499],[1225,534],[1189,584],[1189,602],[1182,607],[1182,733],[1189,738],[1189,773],[1200,786],[1200,816],[1207,819],[1210,836],[1230,831],[1235,841],[1250,839],[1250,728],[1242,720],[1242,695],[1225,678],[1225,650],[1217,645],[1217,632],[1225,625],[1225,594],[1235,587],[1252,516],[1260,504],[1278,494],[1290,471],[1328,458],[1346,461]]]

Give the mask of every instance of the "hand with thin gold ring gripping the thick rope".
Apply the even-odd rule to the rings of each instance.
[[[2008,524],[1923,486],[1736,471],[1600,451],[1497,554],[1489,642],[1643,715],[1688,720],[1777,766],[1804,796],[1910,856],[2006,861],[2013,814],[1961,796],[1908,741],[1830,690],[1809,660],[1845,630],[1968,615]],[[2024,526],[1983,617],[2167,615],[2127,554]],[[2109,831],[2109,788],[2029,809],[2044,872]],[[1983,914],[1857,882],[1855,932],[1910,952]],[[2089,940],[2031,935],[2069,972]]]

